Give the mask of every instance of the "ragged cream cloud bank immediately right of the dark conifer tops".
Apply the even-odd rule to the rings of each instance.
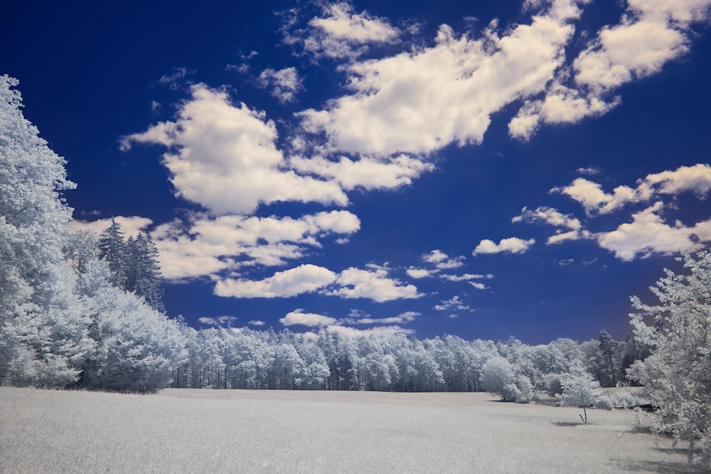
[[[198,216],[189,227],[169,222],[151,236],[160,252],[166,279],[217,275],[228,269],[260,264],[285,265],[306,256],[309,247],[321,247],[328,235],[351,235],[360,220],[345,210],[291,217]]]

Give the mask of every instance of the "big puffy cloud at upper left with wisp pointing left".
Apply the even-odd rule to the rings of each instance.
[[[285,169],[277,149],[277,129],[263,112],[232,104],[225,90],[193,85],[175,122],[160,122],[147,131],[125,136],[133,143],[169,149],[163,163],[171,171],[176,196],[218,214],[248,214],[260,203],[315,201],[346,205],[336,183],[299,176]]]

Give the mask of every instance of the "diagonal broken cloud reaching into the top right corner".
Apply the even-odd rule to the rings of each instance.
[[[533,3],[533,2],[531,2]],[[619,23],[601,28],[542,97],[526,97],[509,133],[528,140],[540,124],[579,122],[621,102],[615,91],[653,75],[689,50],[690,26],[711,18],[709,0],[629,0]]]

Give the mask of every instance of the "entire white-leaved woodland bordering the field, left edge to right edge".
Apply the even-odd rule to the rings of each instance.
[[[65,161],[0,76],[0,384],[154,392],[164,387],[480,391],[529,402],[535,391],[589,406],[599,387],[643,384],[656,430],[711,454],[711,254],[683,254],[658,300],[633,304],[633,332],[584,343],[467,341],[454,335],[314,337],[283,330],[196,330],[166,316],[149,235],[70,234]],[[652,325],[648,323],[652,321]]]

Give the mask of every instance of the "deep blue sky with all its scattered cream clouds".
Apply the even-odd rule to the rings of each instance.
[[[70,226],[150,232],[169,316],[624,338],[711,242],[711,1],[241,3],[0,29]]]

